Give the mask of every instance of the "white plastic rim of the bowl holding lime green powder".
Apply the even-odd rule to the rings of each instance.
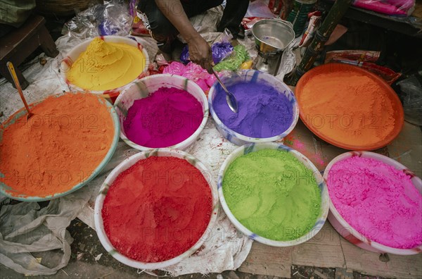
[[[239,156],[243,156],[250,152],[259,151],[263,149],[276,149],[276,150],[290,152],[293,156],[295,156],[300,161],[300,163],[303,163],[307,168],[309,168],[310,171],[312,171],[312,173],[314,174],[316,183],[318,183],[318,187],[321,192],[321,209],[319,212],[319,216],[316,219],[316,222],[312,230],[309,230],[307,234],[302,235],[296,240],[289,240],[289,241],[270,240],[266,237],[262,237],[260,235],[257,235],[256,233],[253,233],[251,230],[246,228],[241,222],[239,222],[237,218],[233,215],[233,213],[231,213],[229,206],[226,204],[226,199],[224,199],[222,182],[224,179],[224,173],[226,169]],[[319,230],[321,230],[321,228],[324,226],[324,223],[326,222],[326,218],[328,216],[328,205],[329,205],[328,190],[324,182],[324,179],[322,178],[321,173],[314,166],[314,164],[311,161],[309,161],[309,159],[307,159],[307,157],[301,154],[299,151],[296,151],[295,149],[286,147],[286,145],[278,144],[275,142],[265,142],[265,143],[258,143],[258,144],[250,143],[250,144],[245,144],[235,149],[226,158],[226,160],[222,164],[222,167],[219,169],[219,174],[218,174],[218,179],[217,179],[217,189],[218,189],[218,194],[219,194],[219,200],[220,200],[220,203],[222,204],[222,208],[224,209],[224,212],[226,213],[227,217],[229,217],[231,223],[233,223],[234,226],[238,230],[240,230],[244,235],[248,236],[250,239],[256,240],[257,242],[261,242],[262,244],[267,244],[269,246],[289,247],[289,246],[298,245],[300,243],[310,240],[317,233],[319,233]]]

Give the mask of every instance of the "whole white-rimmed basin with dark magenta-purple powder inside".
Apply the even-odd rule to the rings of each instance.
[[[196,141],[208,120],[203,90],[179,75],[151,75],[134,82],[117,97],[115,109],[120,138],[141,151],[184,150]]]

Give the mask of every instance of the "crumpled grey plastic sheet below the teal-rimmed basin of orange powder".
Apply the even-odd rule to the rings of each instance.
[[[0,211],[0,262],[25,275],[51,275],[68,264],[73,239],[66,230],[88,202],[89,187],[53,199],[40,209],[37,202],[4,205]],[[61,249],[60,262],[48,268],[31,252]]]

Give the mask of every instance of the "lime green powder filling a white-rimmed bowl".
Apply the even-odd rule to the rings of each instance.
[[[312,171],[286,151],[238,157],[224,173],[224,199],[246,228],[270,240],[295,240],[312,230],[321,197]]]

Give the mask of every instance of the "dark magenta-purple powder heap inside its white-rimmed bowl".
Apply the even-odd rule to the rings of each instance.
[[[161,87],[134,101],[123,127],[127,138],[143,147],[170,147],[190,137],[203,117],[203,106],[191,94]]]

